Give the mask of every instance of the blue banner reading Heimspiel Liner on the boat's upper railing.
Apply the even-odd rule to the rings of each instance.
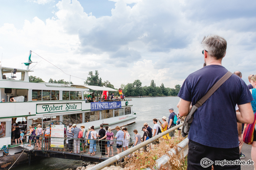
[[[115,102],[92,102],[91,111],[121,108],[121,101]]]

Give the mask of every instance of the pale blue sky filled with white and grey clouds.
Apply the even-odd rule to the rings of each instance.
[[[0,0],[2,66],[23,68],[48,82],[99,71],[115,88],[141,80],[174,88],[203,66],[201,40],[228,43],[223,66],[248,84],[256,74],[256,1]],[[40,58],[38,55],[42,58]],[[71,77],[75,84],[84,80]]]

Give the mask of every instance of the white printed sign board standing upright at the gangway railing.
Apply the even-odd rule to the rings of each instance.
[[[64,148],[64,125],[51,126],[51,147]]]

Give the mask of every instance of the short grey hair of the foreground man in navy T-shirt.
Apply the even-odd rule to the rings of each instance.
[[[204,50],[212,57],[215,57],[217,60],[225,56],[227,49],[227,41],[218,35],[211,35],[204,37],[201,44],[204,47]]]

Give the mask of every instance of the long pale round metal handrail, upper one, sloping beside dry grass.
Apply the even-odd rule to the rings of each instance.
[[[131,153],[133,153],[134,151],[137,151],[138,149],[142,148],[143,146],[146,146],[149,143],[154,142],[155,140],[161,138],[162,136],[164,136],[164,135],[172,132],[173,130],[181,127],[182,125],[183,125],[183,123],[181,123],[181,124],[179,124],[179,125],[177,125],[175,127],[172,127],[170,129],[168,129],[168,130],[158,134],[157,136],[154,136],[154,137],[152,137],[152,138],[150,138],[150,139],[140,143],[139,145],[136,145],[136,146],[134,146],[134,147],[132,147],[130,149],[127,149],[126,151],[123,151],[120,154],[117,154],[114,157],[111,157],[108,160],[105,160],[105,161],[103,161],[103,162],[101,162],[101,163],[99,163],[99,164],[89,168],[88,170],[100,170],[100,169],[103,169],[104,167],[109,166],[112,163],[117,162],[118,160],[122,159],[123,157],[125,157],[125,156],[127,156],[127,155],[129,155]]]

